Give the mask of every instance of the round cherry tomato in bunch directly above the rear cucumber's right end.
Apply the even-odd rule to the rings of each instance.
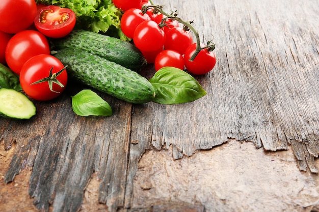
[[[165,34],[155,21],[147,20],[136,27],[133,40],[141,51],[156,51],[164,46]]]

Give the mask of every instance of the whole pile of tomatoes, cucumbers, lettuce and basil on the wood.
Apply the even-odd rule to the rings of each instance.
[[[191,102],[206,95],[191,74],[216,64],[215,44],[201,43],[192,21],[152,1],[2,0],[0,18],[4,117],[31,118],[31,100],[59,97],[68,79],[134,104]],[[139,74],[146,64],[150,79]],[[90,89],[70,98],[77,115],[112,115]]]

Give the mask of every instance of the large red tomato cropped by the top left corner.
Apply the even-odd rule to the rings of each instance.
[[[35,0],[1,0],[0,31],[15,34],[32,25],[37,13]]]

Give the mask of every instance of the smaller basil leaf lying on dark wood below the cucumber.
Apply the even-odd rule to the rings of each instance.
[[[90,89],[81,90],[81,92],[72,96],[72,109],[75,114],[80,116],[110,116],[112,108],[96,93]]]

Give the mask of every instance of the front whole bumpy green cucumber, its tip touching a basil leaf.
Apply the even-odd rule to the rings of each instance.
[[[67,66],[70,78],[129,103],[146,103],[155,97],[152,84],[137,72],[79,49],[54,54]]]

